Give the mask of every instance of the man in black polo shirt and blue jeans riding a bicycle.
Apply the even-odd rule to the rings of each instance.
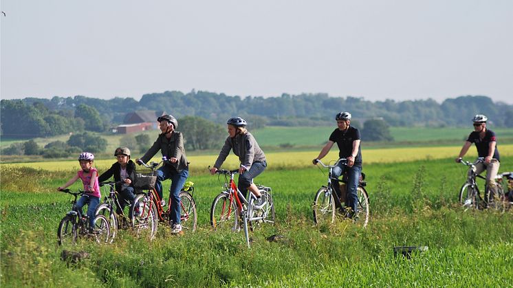
[[[360,131],[351,126],[351,113],[340,112],[336,115],[338,128],[335,129],[329,136],[329,140],[323,149],[320,151],[316,159],[313,160],[314,164],[317,164],[318,159],[323,159],[331,149],[334,143],[337,144],[340,152],[338,153],[339,158],[347,159],[347,166],[338,164],[337,167],[333,168],[333,177],[338,179],[345,170],[347,170],[347,197],[345,201],[346,208],[350,208],[353,213],[349,214],[352,217],[354,213],[358,212],[358,195],[356,190],[358,189],[358,181],[362,174],[362,152],[360,151]],[[332,181],[336,191],[339,190],[338,181]]]

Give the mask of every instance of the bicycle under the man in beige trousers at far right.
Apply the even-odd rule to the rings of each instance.
[[[492,208],[494,210],[503,211],[512,204],[510,201],[507,201],[507,197],[504,193],[503,177],[510,177],[513,173],[505,172],[496,175],[496,194],[490,192],[486,182],[483,190],[484,192],[481,193],[479,191],[476,179],[480,178],[486,180],[486,178],[476,173],[476,165],[483,163],[484,160],[484,157],[478,157],[474,162],[469,162],[463,159],[459,160],[459,163],[468,166],[469,171],[467,173],[467,180],[465,183],[463,183],[459,190],[459,203],[462,204],[465,210]]]

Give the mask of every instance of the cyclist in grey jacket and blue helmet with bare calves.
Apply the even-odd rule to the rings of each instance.
[[[267,167],[265,154],[257,140],[245,129],[245,126],[248,124],[245,120],[240,117],[234,117],[228,119],[226,124],[228,125],[228,137],[210,173],[214,175],[224,160],[226,160],[228,154],[230,154],[230,150],[233,150],[233,153],[239,156],[241,162],[239,167],[239,190],[246,197],[249,196],[247,192],[250,190],[259,199],[256,205],[262,206],[265,203],[265,197],[261,197],[259,188],[253,183],[253,178],[260,175],[265,170],[265,167]]]

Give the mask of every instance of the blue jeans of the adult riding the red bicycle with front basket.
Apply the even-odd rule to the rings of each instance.
[[[155,182],[155,190],[162,199],[162,181],[171,179],[171,188],[169,188],[169,198],[171,198],[171,221],[174,224],[181,223],[180,221],[180,190],[184,187],[185,181],[189,176],[189,168],[177,172],[171,166],[162,166],[157,170],[157,181]]]

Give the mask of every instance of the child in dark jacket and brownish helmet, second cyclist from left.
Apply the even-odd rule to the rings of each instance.
[[[128,147],[118,147],[114,151],[114,157],[118,160],[112,164],[109,170],[105,171],[98,177],[99,182],[107,181],[110,177],[114,177],[116,182],[116,191],[118,191],[121,201],[121,209],[127,206],[127,201],[131,204],[135,199],[135,188],[133,188],[133,180],[135,178],[135,164],[130,159],[130,149]],[[121,211],[118,211],[120,213]]]

